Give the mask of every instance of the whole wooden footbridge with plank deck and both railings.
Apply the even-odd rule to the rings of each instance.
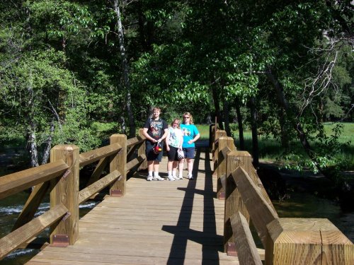
[[[353,243],[329,220],[280,218],[251,155],[236,151],[224,131],[211,137],[211,149],[198,148],[193,180],[147,182],[144,137],[118,134],[81,154],[55,146],[51,163],[0,177],[0,199],[35,185],[0,239],[0,259],[50,227],[27,264],[354,264]],[[96,168],[79,190],[79,168],[91,163]],[[160,172],[166,177],[166,157]],[[79,218],[79,204],[105,187],[109,194]],[[50,210],[33,218],[48,191]],[[264,249],[256,248],[250,219]]]

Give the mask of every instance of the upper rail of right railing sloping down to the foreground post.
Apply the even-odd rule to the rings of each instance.
[[[253,183],[251,177],[242,167],[237,167],[232,172],[232,177],[239,189],[242,201],[246,204],[252,223],[261,238],[263,246],[266,248],[267,225],[278,218],[278,214],[273,210],[273,207],[270,207],[260,189],[256,187],[256,184]]]

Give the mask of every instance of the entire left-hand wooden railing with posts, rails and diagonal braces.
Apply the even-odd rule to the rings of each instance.
[[[127,174],[146,166],[144,141],[140,129],[139,136],[132,139],[113,134],[108,146],[86,153],[79,153],[74,145],[54,146],[50,163],[0,177],[0,199],[34,187],[12,231],[0,239],[0,260],[15,249],[28,247],[49,227],[50,240],[47,241],[51,245],[73,245],[79,234],[79,204],[108,186],[110,196],[123,196]],[[87,187],[79,190],[80,167],[97,161]],[[109,174],[101,177],[108,165]],[[34,218],[48,191],[50,210]]]

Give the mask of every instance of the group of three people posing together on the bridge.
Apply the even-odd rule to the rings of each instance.
[[[174,181],[183,179],[183,165],[187,162],[188,179],[193,179],[193,163],[195,153],[195,141],[200,137],[197,127],[193,124],[190,112],[183,114],[183,123],[175,118],[171,126],[167,126],[164,119],[160,118],[161,109],[154,107],[152,117],[144,124],[143,134],[147,138],[147,180],[164,180],[159,176],[159,164],[166,141],[166,151],[169,162],[167,163],[167,179]],[[183,155],[181,154],[183,151]],[[183,156],[183,158],[182,158]],[[178,176],[176,175],[178,167]]]

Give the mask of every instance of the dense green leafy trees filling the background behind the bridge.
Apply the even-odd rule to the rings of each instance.
[[[135,136],[152,106],[219,128],[258,164],[353,179],[353,2],[11,0],[0,2],[0,143],[29,166]],[[325,122],[330,122],[325,128]],[[350,131],[350,129],[349,129]]]

